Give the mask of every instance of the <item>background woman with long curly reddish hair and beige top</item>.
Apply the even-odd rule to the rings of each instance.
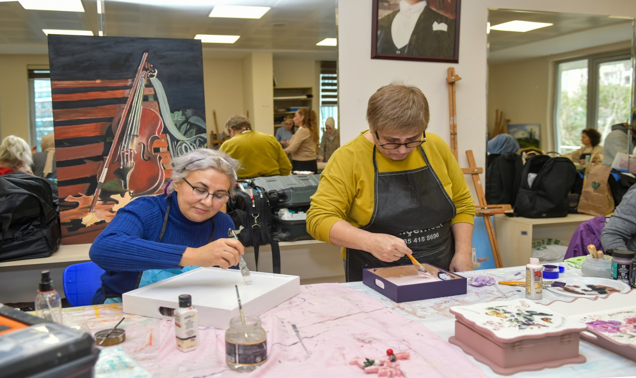
[[[300,108],[294,115],[294,125],[298,130],[289,141],[285,153],[291,153],[293,171],[318,172],[316,157],[318,151],[318,124],[316,112]]]

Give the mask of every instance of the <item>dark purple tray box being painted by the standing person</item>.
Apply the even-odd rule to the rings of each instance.
[[[439,281],[426,280],[414,283],[419,274],[415,265],[364,269],[362,281],[366,286],[397,303],[466,294],[466,277],[431,264],[423,263],[422,266],[432,276],[438,277]],[[404,284],[397,283],[397,278],[408,277],[413,279],[404,280]]]

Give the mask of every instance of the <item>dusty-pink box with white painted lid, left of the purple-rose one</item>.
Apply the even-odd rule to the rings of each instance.
[[[584,363],[579,335],[586,329],[550,307],[515,299],[451,307],[448,340],[501,375]]]

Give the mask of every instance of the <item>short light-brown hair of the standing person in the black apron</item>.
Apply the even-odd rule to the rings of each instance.
[[[399,81],[378,89],[366,108],[371,132],[424,132],[429,118],[429,102],[422,91]]]

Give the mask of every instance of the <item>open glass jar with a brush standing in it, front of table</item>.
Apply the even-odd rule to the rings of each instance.
[[[240,316],[230,319],[225,332],[225,360],[236,372],[251,372],[267,361],[267,333],[261,327],[261,319]]]

